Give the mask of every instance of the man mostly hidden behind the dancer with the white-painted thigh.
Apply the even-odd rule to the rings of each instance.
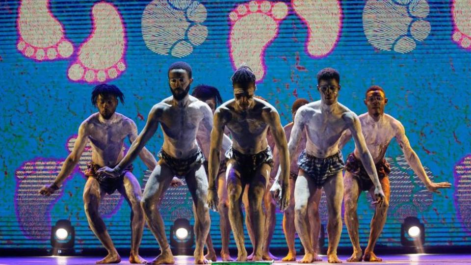
[[[297,110],[309,102],[305,99],[297,99],[294,101],[293,106],[291,107],[291,115],[292,119],[294,121],[294,116],[296,115]],[[291,135],[291,130],[293,128],[293,122],[290,122],[287,124],[283,129],[285,130],[285,134],[287,139]],[[299,154],[301,151],[306,149],[306,133],[301,134],[301,140],[299,141],[299,145],[296,148],[296,152],[294,154],[294,157],[299,157]],[[275,158],[275,163],[274,167],[278,168],[279,166],[279,159],[278,159],[278,149],[275,148],[273,151],[273,156]],[[285,232],[285,238],[286,238],[286,243],[288,245],[288,255],[283,258],[283,261],[296,261],[296,248],[294,247],[294,233],[295,227],[294,227],[294,184],[296,182],[296,179],[298,177],[298,164],[297,160],[293,159],[291,161],[291,167],[289,171],[289,205],[288,208],[285,210],[283,214],[283,231]],[[276,172],[272,171],[272,175],[275,175]],[[275,176],[273,176],[274,178]],[[318,198],[314,198],[314,202],[320,201],[320,196],[321,193],[315,193],[316,196],[319,196]],[[309,216],[309,224],[311,227],[311,242],[313,243],[313,249],[314,249],[314,261],[322,261],[322,259],[317,255],[317,249],[318,249],[318,242],[319,242],[319,232],[320,232],[320,216],[319,216],[319,211],[318,211],[318,206],[314,206],[314,203],[310,206],[311,209],[308,211],[308,216]]]

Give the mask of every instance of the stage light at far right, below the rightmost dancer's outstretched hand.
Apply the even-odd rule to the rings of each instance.
[[[417,217],[406,217],[401,224],[401,244],[422,247],[425,242],[425,227]]]

